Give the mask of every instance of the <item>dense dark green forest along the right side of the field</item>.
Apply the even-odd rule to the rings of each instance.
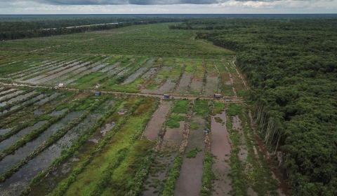
[[[293,195],[337,195],[337,19],[204,19],[171,29],[197,29],[237,52],[260,136]]]

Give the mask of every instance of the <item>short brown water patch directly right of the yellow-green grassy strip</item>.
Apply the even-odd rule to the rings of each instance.
[[[152,115],[150,122],[147,124],[143,138],[155,140],[158,138],[158,134],[161,130],[161,126],[166,120],[166,116],[171,109],[172,102],[166,102],[161,100],[160,105]]]

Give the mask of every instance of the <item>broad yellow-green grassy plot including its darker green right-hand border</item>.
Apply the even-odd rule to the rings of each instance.
[[[157,104],[155,104],[157,102],[154,102],[153,99],[143,99],[143,101],[139,99],[137,102],[136,106],[133,106],[130,111],[128,111],[128,114],[117,122],[115,127],[119,128],[119,130],[114,132],[112,138],[109,138],[110,141],[106,143],[100,150],[100,153],[94,155],[90,163],[77,174],[77,180],[67,183],[66,187],[60,186],[56,188],[56,195],[98,195],[104,193],[106,188],[115,188],[117,185],[119,186],[117,190],[121,193],[126,191],[126,187],[130,188],[132,186],[137,167],[136,165],[133,167],[136,171],[130,170],[132,168],[131,165],[136,164],[134,161],[139,161],[139,159],[133,158],[133,149],[135,149],[134,147],[138,145],[139,142],[142,143],[142,141],[138,141],[138,138],[143,133],[147,121],[150,120],[150,116],[157,106]],[[145,147],[146,146],[147,145],[145,145]],[[141,148],[138,149],[140,150]],[[100,165],[100,167],[97,167],[97,165]],[[115,181],[114,175],[120,175],[117,171],[121,169],[126,169],[126,171],[121,172],[123,176],[120,176],[120,178],[117,178],[118,181]],[[88,178],[88,176],[90,177]],[[124,181],[125,178],[126,181]],[[119,179],[122,181],[119,181]],[[83,186],[84,184],[86,186]],[[62,190],[64,188],[66,188],[66,190]]]

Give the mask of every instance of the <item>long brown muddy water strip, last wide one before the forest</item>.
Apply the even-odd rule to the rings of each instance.
[[[212,170],[216,174],[212,195],[230,195],[230,136],[226,127],[226,113],[212,116],[211,119],[211,153],[216,156]]]

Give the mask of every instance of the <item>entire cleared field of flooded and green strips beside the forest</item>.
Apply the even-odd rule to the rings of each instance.
[[[193,36],[156,24],[1,42],[0,195],[281,193],[233,52]]]

